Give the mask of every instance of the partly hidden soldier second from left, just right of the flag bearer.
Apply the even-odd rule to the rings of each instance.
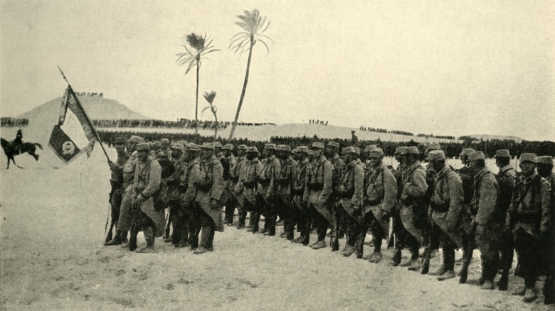
[[[127,153],[131,153],[125,165],[123,165],[123,195],[120,208],[120,217],[117,219],[117,230],[120,231],[120,240],[125,241],[127,231],[132,225],[132,207],[133,207],[133,184],[135,178],[135,168],[137,166],[137,144],[142,143],[144,139],[139,136],[131,136],[127,144]],[[117,241],[116,241],[117,242]],[[129,244],[124,244],[128,247]]]

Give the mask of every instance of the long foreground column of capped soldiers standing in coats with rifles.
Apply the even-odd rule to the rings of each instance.
[[[355,253],[371,263],[381,262],[386,239],[395,249],[388,264],[422,274],[428,273],[432,254],[441,248],[440,268],[430,275],[438,280],[458,276],[460,283],[477,283],[484,290],[495,288],[498,273],[497,287],[507,290],[516,251],[515,275],[524,278],[524,288],[514,295],[523,295],[526,302],[535,300],[536,278],[544,274],[545,302],[553,303],[555,174],[549,156],[522,153],[522,173],[517,174],[509,165],[509,151],[499,150],[495,155],[499,173],[494,175],[485,165],[484,153],[464,149],[463,167],[455,170],[438,145],[425,153],[426,166],[418,148],[397,148],[395,170],[384,163],[381,148],[368,146],[362,153],[355,146],[340,150],[334,141],[293,150],[267,143],[262,160],[255,146],[179,142],[169,148],[169,141],[162,142],[155,159],[148,155],[150,146],[141,142],[132,136],[126,153],[125,139],[116,141],[110,202],[117,231],[106,245],[125,243],[130,231],[127,247],[136,249],[137,232],[142,230],[147,246],[141,251],[154,251],[154,236],[162,235],[164,208],[169,207],[166,226],[173,229],[171,236],[166,232],[166,240],[176,247],[189,246],[195,253],[213,251],[215,231],[223,231],[224,223],[232,226],[237,209],[237,229],[274,236],[280,217],[284,224],[280,237],[314,250],[329,246],[339,251],[344,234],[339,253],[346,257]],[[164,159],[171,163],[166,176],[159,164]],[[155,193],[161,184],[167,187],[165,200]],[[263,227],[259,227],[261,216]],[[312,229],[317,239],[311,244]],[[364,256],[367,231],[374,251]],[[404,263],[402,249],[410,252]],[[458,274],[455,249],[462,250]],[[467,280],[475,249],[480,250],[481,275]]]

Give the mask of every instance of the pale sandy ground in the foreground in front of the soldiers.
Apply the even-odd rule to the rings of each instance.
[[[509,292],[486,291],[388,266],[391,250],[372,264],[233,227],[203,255],[161,239],[154,254],[105,247],[110,177],[100,148],[59,169],[17,160],[25,169],[0,161],[0,310],[553,310],[543,297],[510,295],[522,285],[514,276]],[[470,279],[479,262],[476,251]],[[430,271],[439,264],[438,253]]]

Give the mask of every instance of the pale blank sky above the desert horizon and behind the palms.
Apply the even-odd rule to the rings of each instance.
[[[194,119],[195,72],[176,53],[206,32],[221,51],[200,93],[216,91],[218,119],[232,121],[247,54],[228,45],[236,16],[258,9],[273,43],[255,45],[240,120],[555,141],[554,1],[0,3],[1,116],[60,97],[60,65],[76,92]]]

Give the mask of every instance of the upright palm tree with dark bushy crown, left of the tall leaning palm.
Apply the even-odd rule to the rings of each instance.
[[[213,47],[212,39],[207,37],[206,33],[204,37],[196,35],[195,33],[190,33],[184,38],[181,46],[185,48],[185,52],[177,53],[176,56],[179,65],[187,66],[185,75],[196,66],[195,133],[199,133],[199,74],[201,60],[206,58],[206,54],[216,52],[218,49]]]

